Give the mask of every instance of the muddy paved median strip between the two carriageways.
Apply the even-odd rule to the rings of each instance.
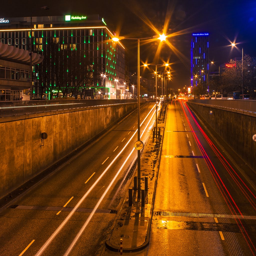
[[[165,103],[162,110],[167,110]],[[141,202],[137,201],[137,191],[134,191],[133,179],[129,188],[133,189],[133,205],[128,204],[128,191],[121,210],[114,221],[106,247],[112,251],[119,251],[120,239],[123,239],[123,252],[136,252],[148,245],[150,227],[152,221],[154,195],[159,169],[159,156],[162,148],[165,116],[158,112],[157,127],[160,128],[160,140],[153,142],[153,131],[145,145],[141,157],[141,189],[145,188],[145,177],[148,177],[148,191],[145,191],[145,207],[141,208]],[[164,113],[164,112],[163,112]],[[166,111],[165,111],[166,113]],[[135,176],[137,171],[135,172]]]

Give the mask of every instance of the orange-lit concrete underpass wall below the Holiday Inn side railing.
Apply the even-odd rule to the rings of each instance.
[[[1,118],[0,198],[136,107],[137,103],[128,103]],[[46,140],[41,139],[42,132],[47,133]]]

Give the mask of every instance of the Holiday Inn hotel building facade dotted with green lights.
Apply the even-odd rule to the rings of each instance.
[[[35,98],[45,96],[50,99],[55,92],[104,99],[122,99],[127,94],[125,49],[120,42],[112,40],[114,32],[99,15],[5,20],[8,23],[0,24],[0,42],[19,49],[32,49],[45,56],[41,64],[33,67]],[[81,56],[86,61],[79,61],[82,65],[79,70],[84,68],[90,72],[87,72],[89,79],[79,79],[81,72],[71,74],[74,59]]]

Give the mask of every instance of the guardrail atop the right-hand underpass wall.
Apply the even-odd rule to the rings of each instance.
[[[188,102],[256,112],[256,100],[188,100]]]

